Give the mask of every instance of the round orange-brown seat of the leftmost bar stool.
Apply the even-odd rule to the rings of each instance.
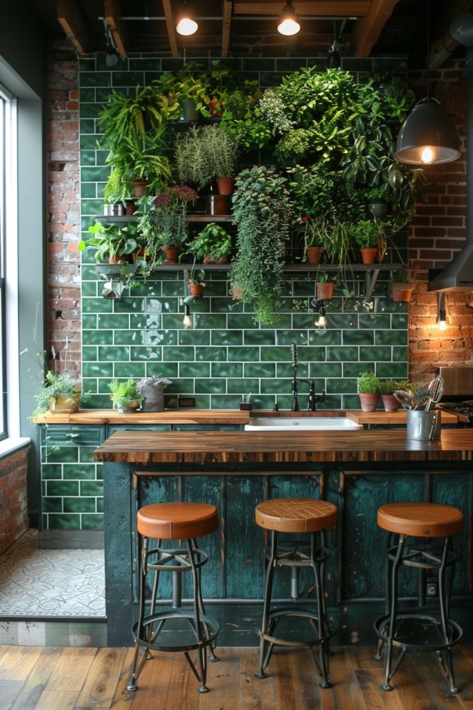
[[[210,503],[153,503],[138,510],[136,527],[155,540],[190,540],[218,529],[218,510]]]

